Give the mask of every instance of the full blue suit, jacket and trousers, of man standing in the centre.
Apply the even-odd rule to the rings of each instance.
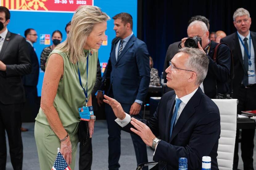
[[[105,94],[121,103],[126,113],[135,100],[144,101],[150,83],[149,54],[147,45],[132,35],[116,60],[115,49],[120,39],[114,39],[108,65],[102,77],[105,82],[110,77],[110,85]],[[102,89],[102,87],[100,88]],[[121,130],[114,122],[116,119],[109,105],[105,106],[109,132],[109,169],[118,169],[121,154]],[[136,117],[141,118],[138,114]],[[147,162],[147,148],[142,139],[131,135],[137,163]]]

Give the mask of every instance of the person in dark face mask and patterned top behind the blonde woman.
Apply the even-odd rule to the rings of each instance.
[[[49,54],[55,47],[62,41],[62,33],[59,30],[53,31],[52,33],[52,45],[45,47],[40,56],[40,68],[45,71],[45,64]]]

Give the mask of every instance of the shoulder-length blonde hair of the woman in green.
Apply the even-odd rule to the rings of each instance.
[[[94,25],[109,19],[109,16],[97,6],[79,6],[72,17],[68,38],[57,45],[56,49],[68,53],[70,62],[76,64],[85,55],[83,47]]]

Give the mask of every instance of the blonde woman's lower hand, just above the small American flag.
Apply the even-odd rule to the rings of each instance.
[[[66,140],[60,142],[60,153],[66,160],[67,164],[70,165],[72,161],[72,146],[69,136]]]

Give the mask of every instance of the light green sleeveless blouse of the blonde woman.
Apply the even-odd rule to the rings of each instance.
[[[84,50],[85,57],[78,62],[79,70],[81,74],[81,81],[83,87],[86,89],[86,83],[88,82],[88,100],[91,96],[97,74],[97,60],[98,52],[93,51],[90,55],[91,50]],[[57,110],[60,120],[64,127],[77,123],[80,120],[78,108],[85,106],[85,94],[79,83],[78,68],[77,64],[73,64],[69,61],[69,56],[67,53],[60,51],[59,49],[54,49],[51,54],[57,53],[64,60],[64,74],[63,78],[60,80],[56,97],[54,99],[54,107]],[[86,56],[89,57],[89,67],[88,67],[88,81],[86,78]],[[36,121],[44,125],[49,125],[43,110],[40,108]]]

